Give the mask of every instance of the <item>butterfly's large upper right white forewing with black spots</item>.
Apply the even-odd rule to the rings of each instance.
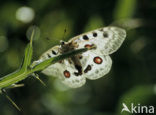
[[[126,31],[118,27],[104,27],[74,37],[69,42],[76,42],[78,48],[86,44],[96,45],[96,52],[109,55],[118,50],[126,37]]]

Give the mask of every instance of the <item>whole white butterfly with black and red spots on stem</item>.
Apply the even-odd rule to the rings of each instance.
[[[86,78],[95,80],[110,71],[112,60],[109,55],[119,49],[125,37],[126,31],[119,27],[99,28],[78,35],[68,42],[61,41],[60,45],[52,47],[41,55],[38,62],[94,45],[94,49],[61,60],[42,71],[48,76],[58,77],[62,83],[71,88],[78,88],[85,84]]]

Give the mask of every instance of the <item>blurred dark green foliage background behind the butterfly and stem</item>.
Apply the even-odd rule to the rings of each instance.
[[[47,87],[27,78],[24,87],[8,90],[22,112],[0,95],[0,115],[120,115],[123,102],[156,107],[155,0],[5,0],[0,7],[0,77],[20,66],[32,25],[34,60],[61,39],[108,25],[127,29],[108,75],[68,89],[39,73]]]

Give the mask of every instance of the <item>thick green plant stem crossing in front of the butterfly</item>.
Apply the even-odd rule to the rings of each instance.
[[[25,78],[27,78],[29,75],[31,75],[32,73],[34,73],[36,71],[42,71],[43,69],[45,69],[46,67],[48,67],[51,64],[54,64],[60,60],[69,58],[70,56],[73,56],[73,55],[76,55],[79,53],[83,53],[87,50],[88,50],[87,48],[73,50],[71,52],[67,52],[65,54],[56,56],[54,58],[47,59],[47,60],[35,65],[31,69],[29,67],[27,69],[18,69],[17,71],[15,71],[11,74],[8,74],[0,79],[0,90],[7,88],[7,87],[11,86],[12,84],[15,84],[21,80],[24,80]]]

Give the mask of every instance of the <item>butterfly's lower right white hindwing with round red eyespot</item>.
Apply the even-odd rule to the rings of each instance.
[[[82,54],[82,66],[84,69],[84,76],[88,79],[94,80],[106,75],[112,66],[110,56],[100,56],[93,51],[87,51]]]

